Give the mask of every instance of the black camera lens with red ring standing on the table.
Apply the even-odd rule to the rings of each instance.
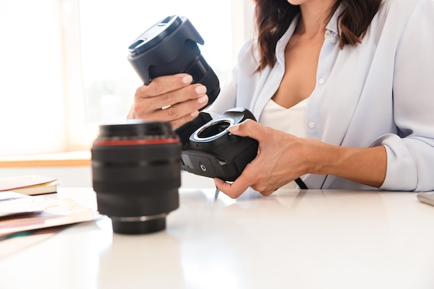
[[[131,121],[100,125],[92,146],[98,211],[113,231],[145,234],[166,227],[179,207],[181,143],[170,123]]]

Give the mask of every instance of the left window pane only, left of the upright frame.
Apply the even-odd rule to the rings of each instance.
[[[0,1],[0,155],[65,146],[57,1]]]

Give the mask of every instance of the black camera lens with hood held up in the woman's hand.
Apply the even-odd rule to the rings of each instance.
[[[204,40],[186,17],[169,16],[148,28],[128,47],[128,60],[145,85],[153,78],[189,73],[193,83],[207,87],[209,107],[220,93],[220,83],[200,53]]]

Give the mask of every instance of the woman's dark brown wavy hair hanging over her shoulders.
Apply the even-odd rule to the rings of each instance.
[[[288,0],[255,0],[255,17],[258,33],[261,71],[276,63],[275,50],[277,41],[288,29],[291,21],[300,12],[300,6],[288,3]],[[331,7],[326,21],[333,17],[342,3],[342,12],[338,15],[340,31],[340,49],[347,44],[356,46],[361,43],[372,18],[379,10],[381,0],[337,0]]]

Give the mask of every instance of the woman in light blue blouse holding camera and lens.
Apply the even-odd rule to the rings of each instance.
[[[259,120],[229,130],[259,141],[232,184],[269,195],[309,189],[434,190],[434,1],[257,0],[256,42],[210,111]],[[130,118],[193,119],[207,102],[185,74],[140,87]],[[169,110],[160,107],[172,105]]]

